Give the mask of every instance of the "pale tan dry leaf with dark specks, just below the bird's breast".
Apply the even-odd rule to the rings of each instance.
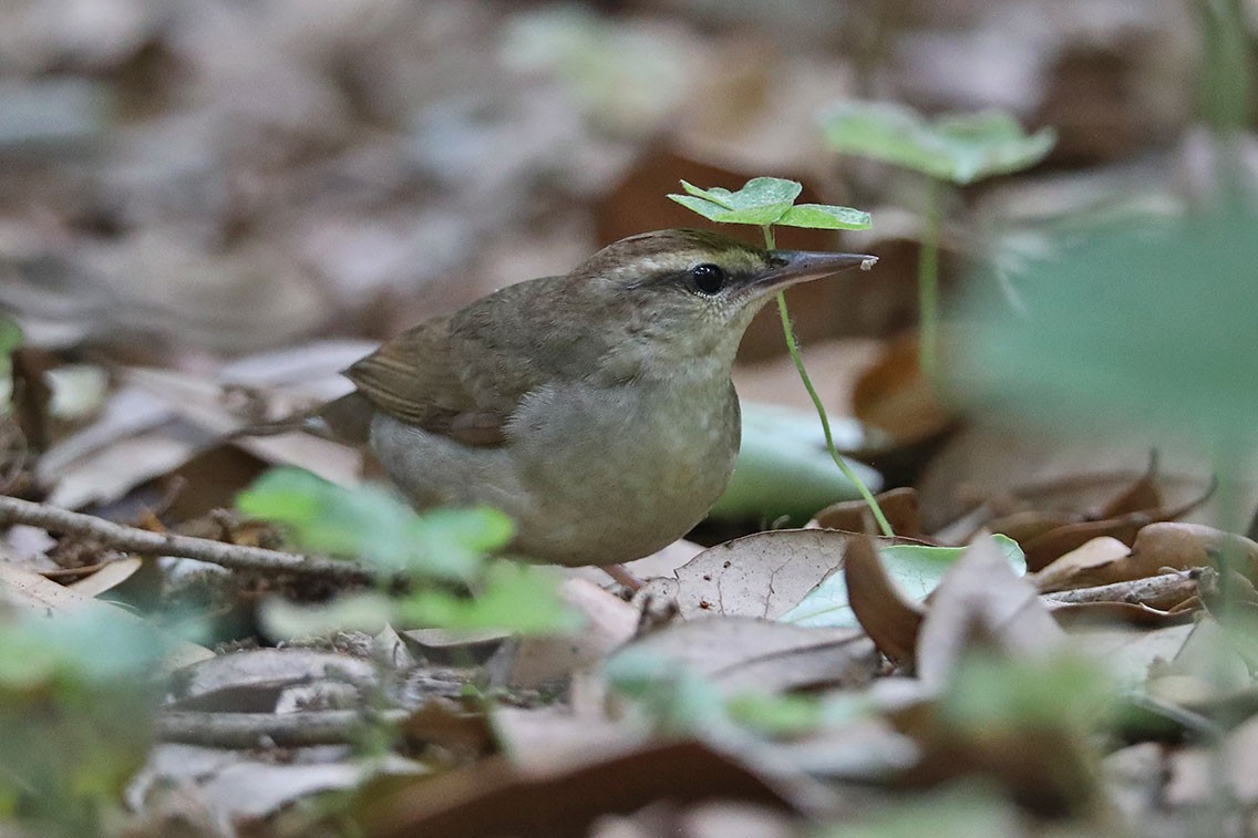
[[[774,530],[704,550],[677,569],[682,615],[781,617],[839,566],[849,539],[830,530]]]

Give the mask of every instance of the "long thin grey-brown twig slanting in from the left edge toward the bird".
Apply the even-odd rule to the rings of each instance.
[[[341,583],[372,583],[380,574],[356,561],[249,547],[209,539],[150,532],[113,523],[91,515],[31,503],[15,497],[0,497],[0,525],[25,523],[63,535],[92,539],[99,544],[148,556],[196,559],[231,570],[267,574],[322,576]]]

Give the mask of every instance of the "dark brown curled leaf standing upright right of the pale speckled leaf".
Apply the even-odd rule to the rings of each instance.
[[[887,576],[872,539],[854,539],[843,561],[848,601],[878,651],[905,666],[917,648],[925,610]]]

